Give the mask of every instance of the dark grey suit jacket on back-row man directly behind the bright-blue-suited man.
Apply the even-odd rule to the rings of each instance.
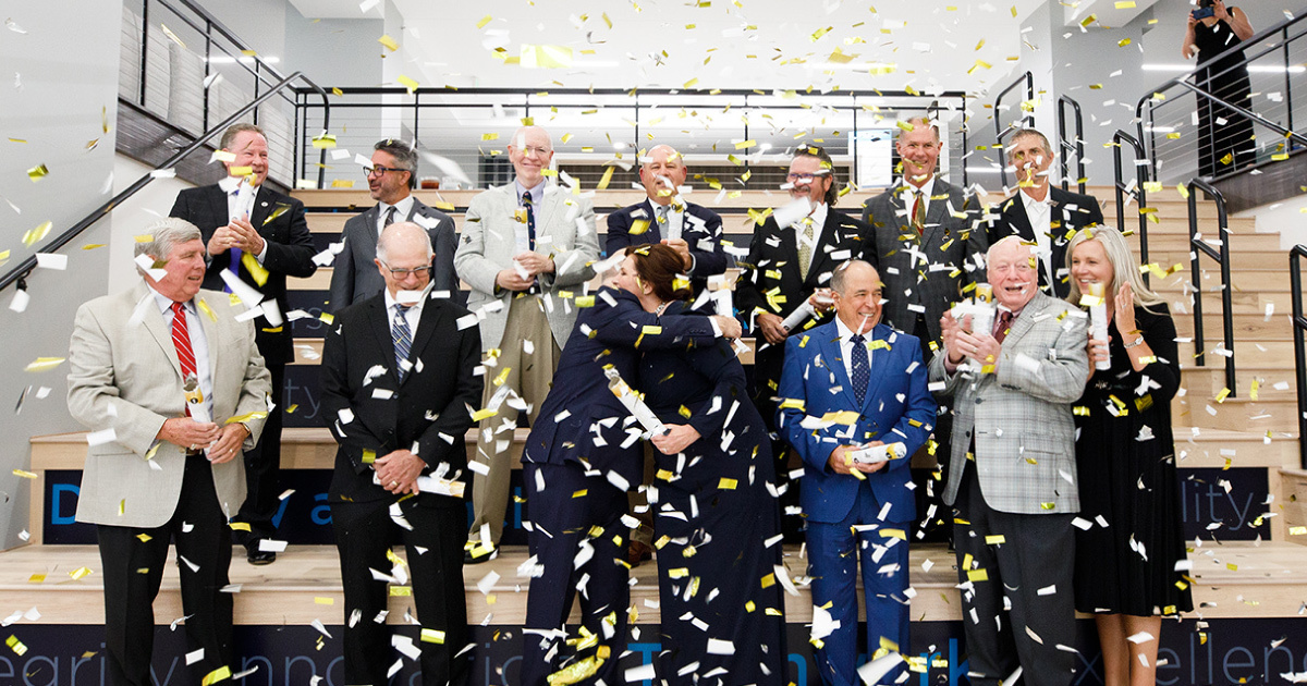
[[[903,183],[868,200],[863,221],[874,235],[868,261],[885,285],[885,321],[912,332],[916,315],[923,314],[931,340],[937,341],[940,318],[962,299],[962,287],[984,281],[974,274],[984,268],[976,256],[983,257],[989,243],[978,226],[975,200],[938,176],[932,191],[921,235],[912,227],[912,208],[903,205]]]

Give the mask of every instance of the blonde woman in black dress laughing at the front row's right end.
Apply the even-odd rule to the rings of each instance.
[[[1180,387],[1175,323],[1140,278],[1120,231],[1080,231],[1067,247],[1070,297],[1102,284],[1107,340],[1089,341],[1076,402],[1080,517],[1076,609],[1094,614],[1107,686],[1157,682],[1162,617],[1193,609],[1184,567],[1171,399]],[[1110,359],[1111,368],[1094,363]],[[1129,640],[1138,634],[1151,638]]]

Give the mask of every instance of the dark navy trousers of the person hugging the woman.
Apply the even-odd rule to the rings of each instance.
[[[626,546],[630,529],[622,524],[626,491],[603,476],[587,477],[576,463],[525,465],[527,512],[531,532],[527,542],[544,574],[531,580],[527,623],[523,627],[521,686],[545,686],[549,674],[562,665],[569,649],[554,630],[566,630],[572,598],[580,589],[582,626],[600,636],[608,657],[599,672],[579,683],[622,683],[617,657],[626,649],[626,610],[630,605],[630,572]],[[544,489],[541,489],[541,483]],[[582,490],[584,495],[576,497]],[[576,564],[588,549],[588,559]],[[586,583],[582,584],[582,578]],[[535,632],[532,632],[535,630]],[[542,635],[548,634],[548,635]],[[550,655],[550,651],[559,649]],[[576,657],[596,655],[596,648]]]

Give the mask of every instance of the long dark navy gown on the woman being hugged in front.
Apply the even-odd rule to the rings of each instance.
[[[672,303],[663,319],[685,311]],[[702,436],[681,455],[655,451],[659,679],[788,683],[784,598],[774,576],[782,563],[780,512],[767,489],[775,469],[744,367],[724,341],[647,351],[640,388],[664,423],[689,423]]]

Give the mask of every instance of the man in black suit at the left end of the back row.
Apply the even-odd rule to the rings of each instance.
[[[200,229],[205,243],[204,287],[231,289],[226,280],[238,280],[256,290],[263,308],[255,320],[255,338],[264,365],[272,374],[272,400],[278,406],[268,414],[263,436],[244,453],[244,504],[233,521],[237,541],[246,547],[251,564],[269,564],[277,553],[264,550],[263,541],[277,528],[281,489],[281,401],[285,393],[286,365],[295,358],[286,311],[286,277],[307,278],[314,264],[314,237],[308,233],[303,203],[278,193],[263,182],[268,179],[268,139],[252,124],[233,124],[222,133],[221,153],[227,176],[213,186],[187,188],[176,196],[170,216]],[[223,274],[226,274],[223,277]]]

